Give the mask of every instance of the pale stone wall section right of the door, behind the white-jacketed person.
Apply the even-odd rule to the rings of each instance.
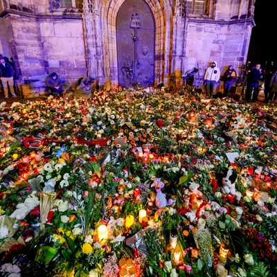
[[[215,61],[222,71],[230,64],[239,70],[247,56],[248,35],[247,26],[240,22],[189,22],[186,39],[188,69],[196,66],[198,62],[204,75],[203,70]]]

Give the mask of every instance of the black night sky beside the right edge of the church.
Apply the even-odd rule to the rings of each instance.
[[[256,0],[254,21],[247,60],[260,62],[265,69],[271,62],[277,66],[277,0]]]

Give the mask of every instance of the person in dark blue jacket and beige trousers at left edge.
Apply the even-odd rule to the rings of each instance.
[[[15,71],[12,68],[12,65],[5,60],[2,56],[0,57],[0,79],[3,84],[4,89],[4,99],[8,98],[8,87],[10,87],[10,93],[12,97],[17,97],[15,95],[15,90],[13,89],[13,76],[15,75]]]

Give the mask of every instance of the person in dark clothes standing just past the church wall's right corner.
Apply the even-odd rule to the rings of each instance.
[[[247,91],[245,98],[247,102],[255,102],[258,100],[259,85],[262,78],[262,70],[260,69],[260,64],[256,64],[255,67],[247,74]],[[253,91],[253,96],[252,96]]]

